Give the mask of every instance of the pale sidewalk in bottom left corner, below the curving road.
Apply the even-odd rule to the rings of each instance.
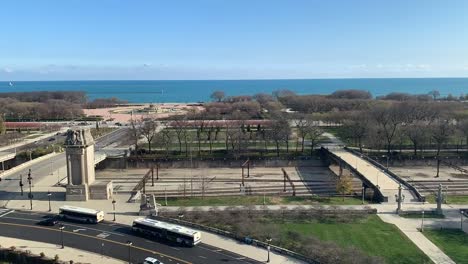
[[[59,256],[62,261],[73,260],[74,263],[99,263],[99,264],[121,264],[126,263],[114,258],[107,256],[101,256],[88,251],[83,251],[71,247],[65,247],[61,249],[60,246],[42,242],[35,242],[29,240],[22,240],[10,237],[0,236],[0,245],[3,248],[9,248],[11,246],[16,247],[17,250],[31,251],[34,255],[40,255],[44,253],[48,258],[54,258],[55,255]]]

